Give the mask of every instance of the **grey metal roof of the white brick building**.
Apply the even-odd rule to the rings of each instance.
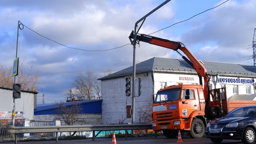
[[[256,66],[242,65],[234,63],[219,63],[202,61],[208,74],[219,76],[234,76],[234,77],[250,77],[256,78]],[[130,66],[121,71],[112,73],[102,77],[99,80],[105,80],[120,76],[131,75],[133,66]],[[182,59],[153,57],[144,62],[136,64],[136,73],[143,72],[175,72],[175,73],[192,73],[196,74],[195,70]]]

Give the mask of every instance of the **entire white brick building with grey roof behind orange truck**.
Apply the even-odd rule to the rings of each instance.
[[[228,98],[235,94],[255,94],[256,66],[233,63],[203,62],[210,74],[212,89],[227,87]],[[131,123],[132,98],[127,97],[125,79],[132,77],[133,67],[100,78],[102,81],[102,123]],[[164,85],[199,84],[194,69],[180,59],[154,57],[136,64],[136,78],[141,79],[141,96],[135,82],[135,123],[150,123],[151,106],[157,90]],[[132,84],[131,84],[132,85]],[[252,98],[254,99],[254,97]],[[147,115],[147,117],[146,117]]]

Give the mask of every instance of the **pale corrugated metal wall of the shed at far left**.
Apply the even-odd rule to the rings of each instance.
[[[23,111],[25,118],[33,120],[34,93],[21,91],[21,98],[16,99],[15,103],[15,111]],[[12,109],[12,90],[0,88],[0,111],[12,111]]]

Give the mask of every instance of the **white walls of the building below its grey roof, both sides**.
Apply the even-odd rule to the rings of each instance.
[[[195,74],[177,74],[177,73],[167,73],[167,72],[155,72],[154,79],[152,78],[152,74],[149,72],[146,76],[146,73],[136,74],[137,78],[141,78],[142,82],[142,93],[140,97],[135,97],[135,123],[142,122],[139,118],[141,117],[141,113],[139,111],[145,111],[149,115],[151,115],[152,103],[153,103],[153,95],[156,94],[157,90],[160,90],[160,82],[167,82],[167,86],[175,85],[178,82],[182,82],[183,84],[199,84],[199,77]],[[126,77],[132,77],[132,75],[128,75]],[[132,105],[132,98],[127,97],[125,94],[125,78],[119,77],[109,80],[102,81],[102,123],[103,124],[119,124],[123,121],[123,123],[131,123],[131,118],[127,118],[126,106]],[[221,77],[220,77],[221,78]],[[229,77],[233,78],[233,77]],[[234,77],[237,78],[237,77]],[[246,78],[243,78],[246,79]],[[249,78],[247,78],[249,79]],[[211,76],[210,84],[212,88],[215,89],[215,81],[217,80],[216,76]],[[153,82],[154,81],[154,82]],[[203,81],[203,80],[202,80]],[[226,84],[227,87],[227,97],[231,97],[233,95],[233,84],[238,84],[238,92],[239,94],[245,94],[245,87],[248,84],[244,83],[220,83],[217,82],[216,88],[220,88],[221,84]],[[132,84],[131,84],[132,85]],[[153,87],[154,86],[154,87]],[[136,96],[137,96],[137,81],[136,81]],[[253,86],[252,86],[253,89]],[[254,90],[251,90],[254,93]]]

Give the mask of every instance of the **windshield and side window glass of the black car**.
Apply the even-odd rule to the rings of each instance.
[[[235,108],[226,117],[251,117],[255,112],[256,107]]]

